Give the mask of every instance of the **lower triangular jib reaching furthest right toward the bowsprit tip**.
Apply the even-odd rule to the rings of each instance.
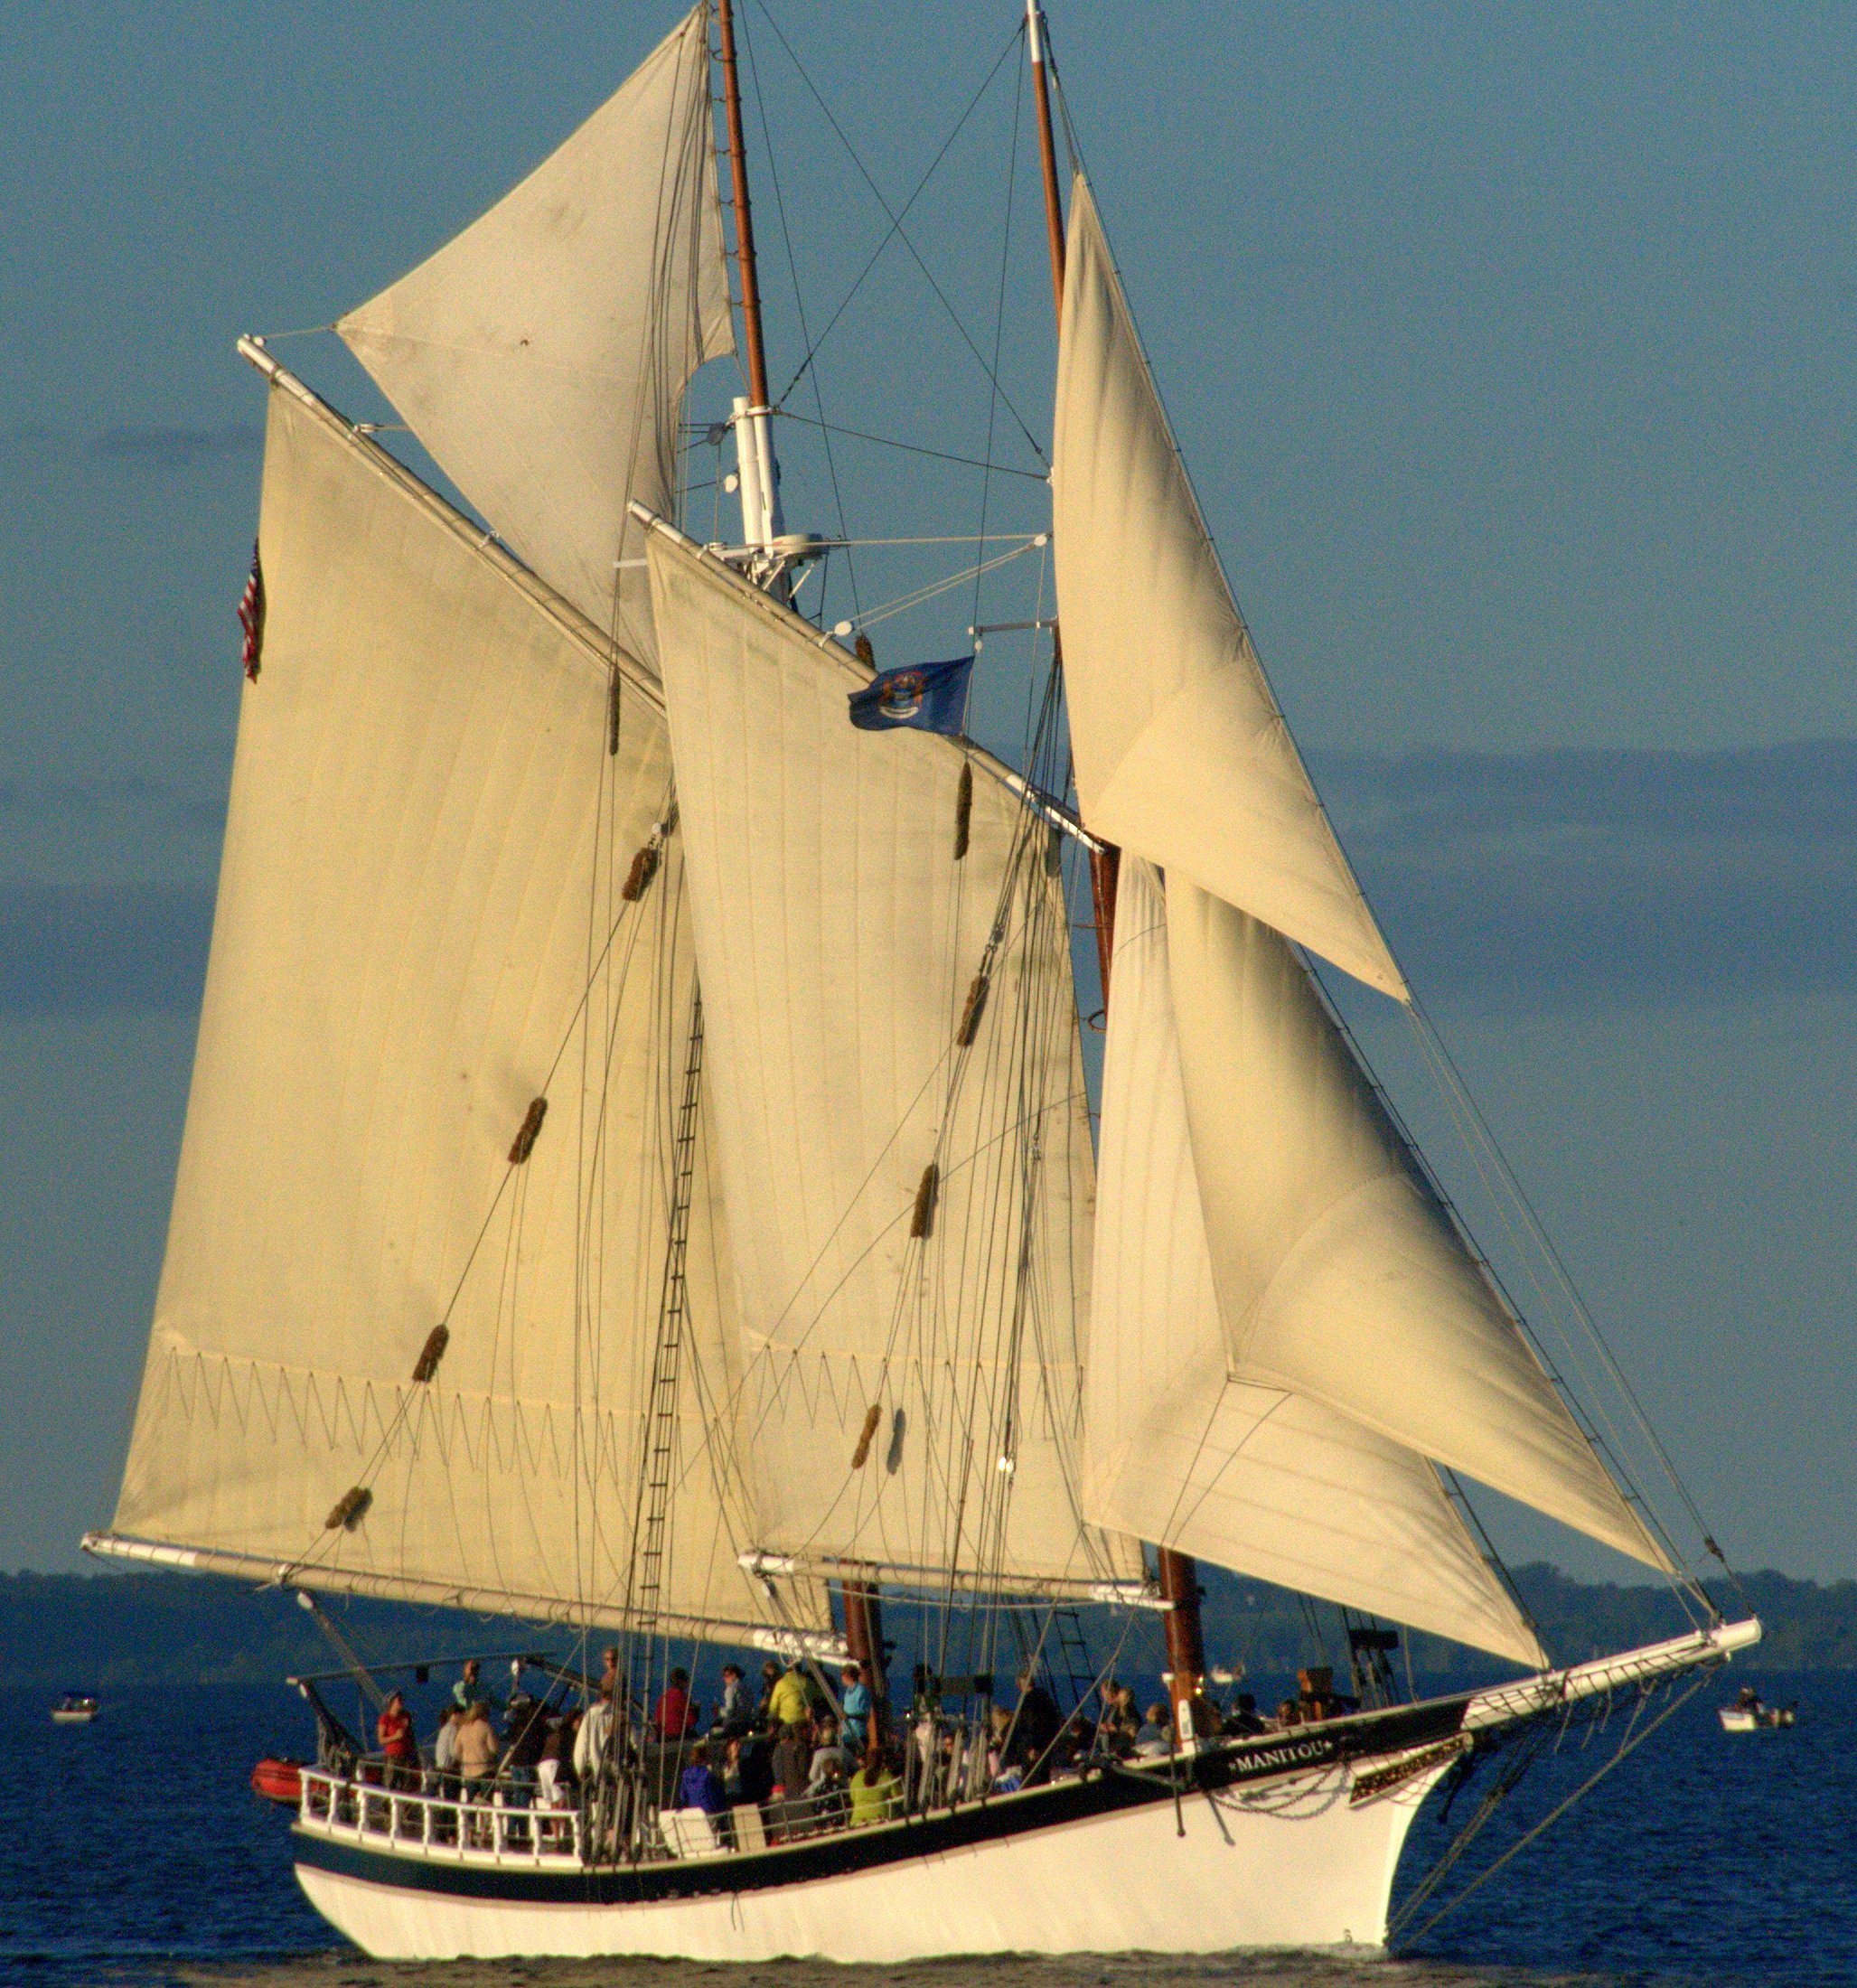
[[[1326,1402],[1668,1569],[1308,968],[1270,926],[1185,877],[1165,895],[1193,1171],[1233,1376]]]

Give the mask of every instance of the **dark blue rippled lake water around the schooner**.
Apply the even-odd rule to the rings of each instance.
[[[14,1736],[0,1781],[0,1976],[48,1988],[1857,1984],[1853,1682],[1764,1678],[1770,1698],[1799,1700],[1799,1726],[1726,1736],[1716,1706],[1730,1688],[1712,1678],[1549,1835],[1392,1962],[1086,1956],[742,1970],[366,1960],[304,1905],[284,1813],[247,1791],[253,1759],[308,1743],[308,1722],[284,1690],[111,1702],[89,1728],[54,1728],[42,1692],[0,1692]],[[1585,1743],[1575,1734],[1545,1757],[1477,1839],[1459,1881],[1593,1773],[1616,1738],[1618,1726]],[[1473,1783],[1451,1827],[1479,1793]],[[1402,1893],[1445,1841],[1434,1811],[1435,1797],[1408,1845]]]

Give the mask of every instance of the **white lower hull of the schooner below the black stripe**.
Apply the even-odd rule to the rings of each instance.
[[[465,1899],[312,1865],[298,1865],[298,1879],[316,1910],[380,1960],[901,1962],[1378,1946],[1406,1831],[1447,1767],[1449,1757],[1434,1757],[1390,1793],[1358,1803],[1348,1767],[1251,1795],[1195,1789],[1179,1815],[1171,1799],[1153,1801],[962,1851],[700,1899]]]

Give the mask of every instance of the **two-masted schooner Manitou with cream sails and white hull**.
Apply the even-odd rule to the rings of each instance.
[[[1058,370],[1048,535],[1014,551],[1056,612],[1018,624],[1016,765],[946,720],[958,666],[875,676],[825,626],[845,541],[783,517],[736,30],[698,6],[334,326],[475,517],[241,342],[251,680],[85,1545],[618,1644],[573,1809],[304,1771],[300,1881],[378,1956],[1380,1942],[1445,1775],[1760,1628],[1603,1455],[1316,978],[1410,1000],[1060,175],[1036,0]],[[698,439],[732,439],[740,539],[678,525]],[[1461,1479],[1670,1576],[1690,1632],[1555,1668]],[[1358,1704],[1225,1720],[1199,1561],[1340,1608]],[[829,1688],[849,1652],[883,1716],[881,1606],[925,1656],[899,1813],[676,1809],[640,1730],[674,1660]],[[1094,1694],[1155,1624],[1171,1734],[1131,1759]],[[1402,1630],[1519,1676],[1402,1700]],[[1066,1728],[1004,1785],[1020,1670]]]

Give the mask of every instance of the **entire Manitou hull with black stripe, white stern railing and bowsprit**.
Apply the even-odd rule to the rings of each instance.
[[[1479,1734],[1718,1664],[1740,1622],[1467,1698],[1219,1741],[873,1829],[589,1869],[575,1819],[304,1773],[296,1875],[378,1960],[901,1962],[1382,1946],[1414,1815]],[[754,1813],[754,1811],[750,1811]],[[541,1821],[541,1827],[537,1823]]]

